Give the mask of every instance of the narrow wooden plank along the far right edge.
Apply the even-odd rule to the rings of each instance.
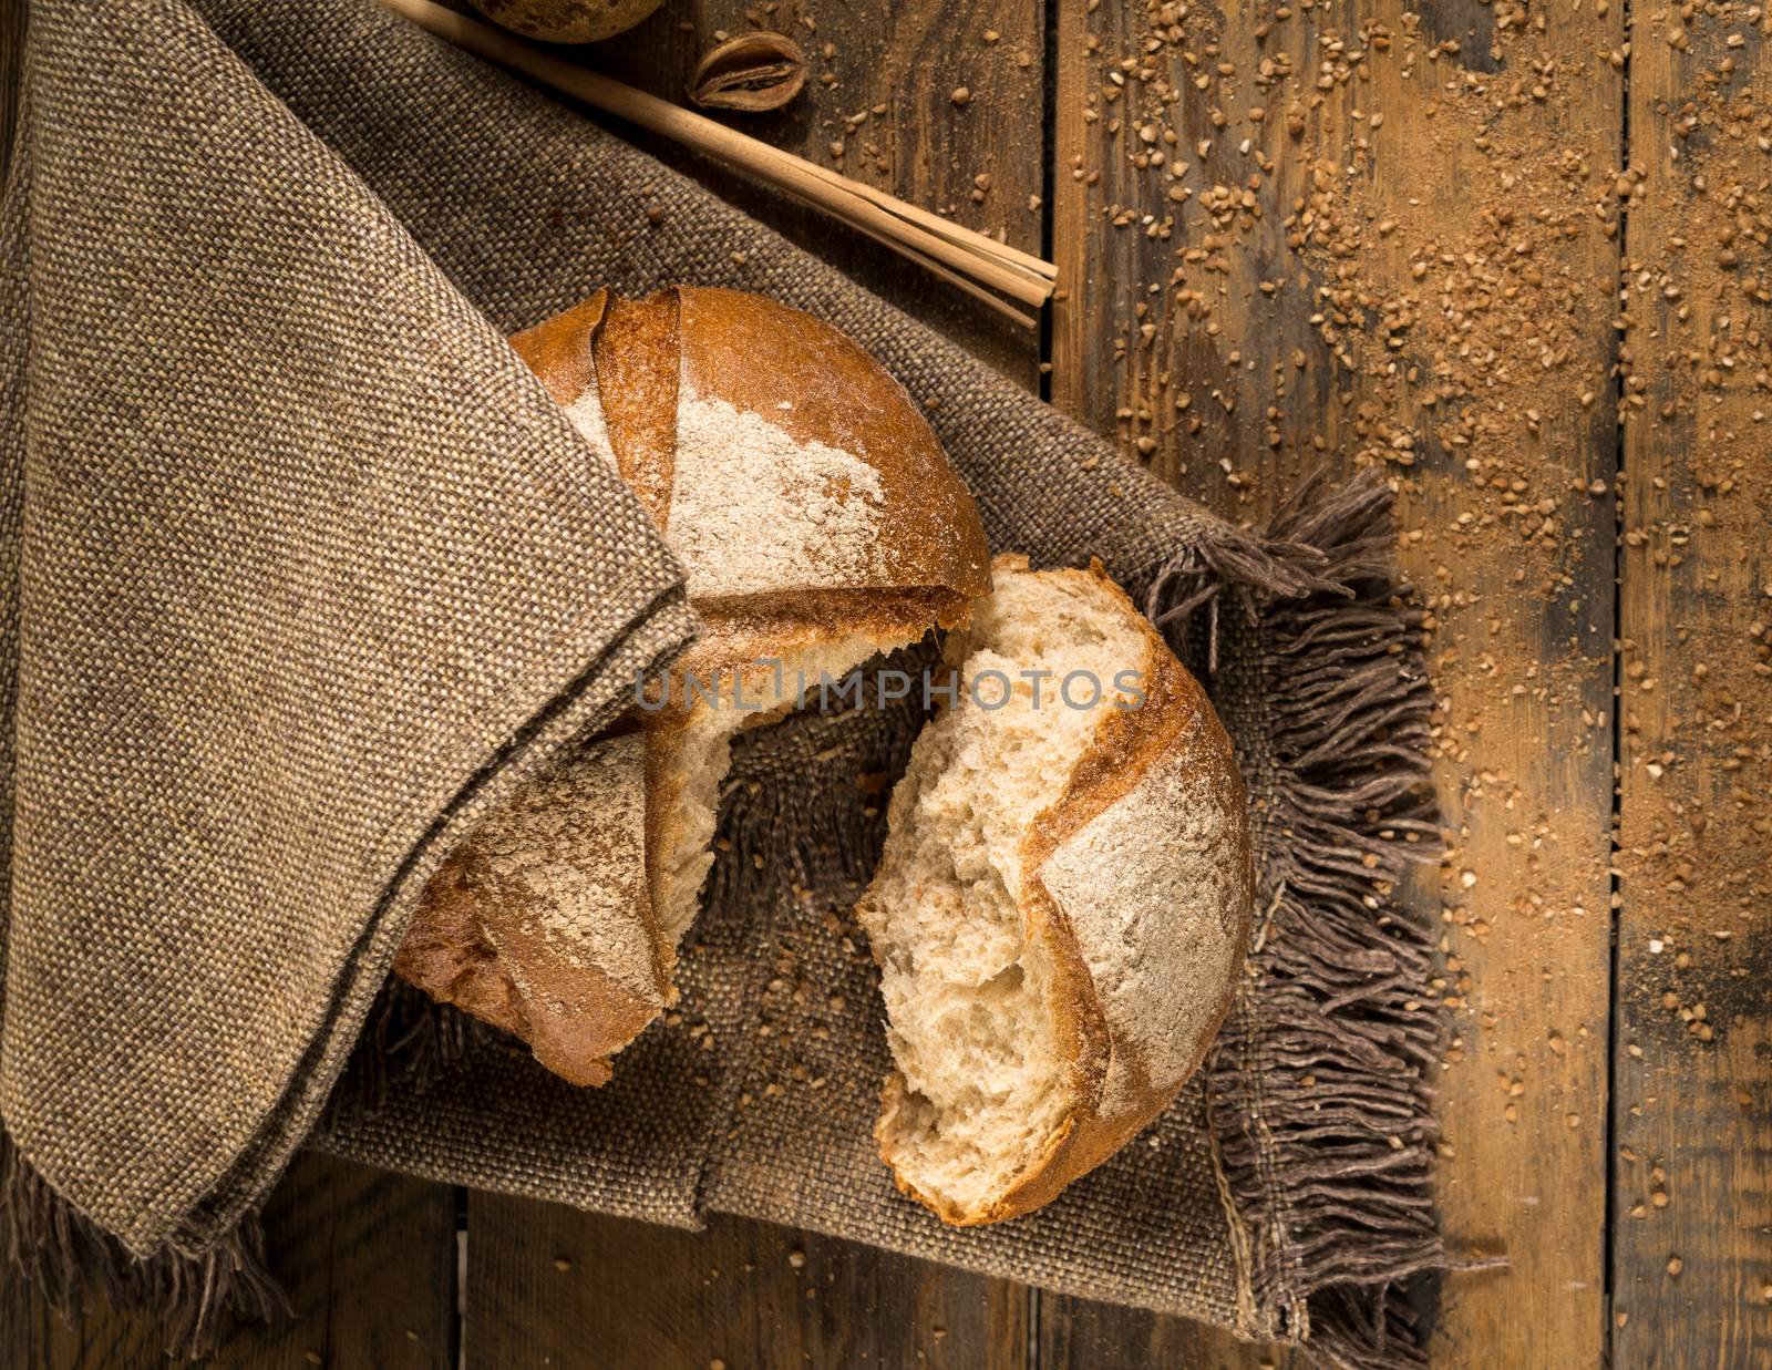
[[[1772,28],[1634,16],[1613,1359],[1772,1366]]]

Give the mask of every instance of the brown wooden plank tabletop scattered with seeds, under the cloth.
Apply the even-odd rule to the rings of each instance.
[[[1444,698],[1449,852],[1409,891],[1444,923],[1441,1212],[1510,1262],[1446,1278],[1434,1363],[1772,1366],[1763,0],[666,0],[587,60],[675,94],[753,25],[815,76],[734,122],[1049,253],[1063,298],[1021,333],[790,232],[1232,518],[1318,466],[1396,482]],[[317,1157],[268,1225],[299,1317],[220,1365],[1302,1363]],[[16,1281],[0,1345],[156,1359]]]

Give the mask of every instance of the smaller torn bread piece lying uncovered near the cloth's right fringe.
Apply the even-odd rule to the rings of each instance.
[[[1230,739],[1148,620],[1099,565],[994,581],[858,906],[895,1062],[875,1140],[953,1225],[1040,1207],[1162,1111],[1253,899]]]

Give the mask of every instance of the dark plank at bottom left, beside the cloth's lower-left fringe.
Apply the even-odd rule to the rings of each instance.
[[[296,1317],[243,1326],[207,1361],[237,1370],[455,1365],[455,1191],[299,1156],[264,1212]],[[0,1363],[110,1370],[165,1361],[158,1324],[92,1310],[67,1327],[16,1278],[0,1299]]]

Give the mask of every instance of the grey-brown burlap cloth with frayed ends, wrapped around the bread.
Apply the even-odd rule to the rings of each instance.
[[[1148,1136],[1031,1218],[944,1230],[872,1152],[884,1042],[847,900],[907,716],[741,750],[680,1012],[611,1086],[381,992],[450,844],[695,631],[654,528],[501,340],[677,280],[874,351],[992,544],[1100,557],[1237,739],[1262,907],[1232,1019]],[[253,1212],[307,1141],[1419,1358],[1398,1287],[1442,1264],[1434,934],[1389,895],[1434,833],[1428,695],[1382,484],[1232,528],[367,0],[34,5],[0,312],[4,1203],[60,1306],[151,1301],[181,1347],[264,1312]]]

